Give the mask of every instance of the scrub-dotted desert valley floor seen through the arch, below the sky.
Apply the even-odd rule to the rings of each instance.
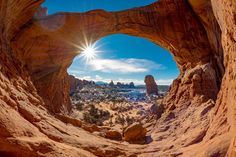
[[[152,141],[154,124],[164,112],[161,101],[169,86],[158,86],[152,76],[146,76],[151,83],[135,87],[134,83],[96,84],[93,81],[71,77],[71,116],[81,123],[85,130],[116,141],[147,144]],[[149,84],[150,84],[149,83]]]

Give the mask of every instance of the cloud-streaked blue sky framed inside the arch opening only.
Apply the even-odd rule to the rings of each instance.
[[[109,35],[99,39],[93,47],[97,52],[92,61],[87,63],[89,56],[82,52],[68,68],[69,74],[95,81],[100,81],[96,79],[96,75],[104,75],[106,83],[111,80],[117,82],[116,78],[133,79],[138,84],[144,84],[145,75],[151,74],[162,85],[170,85],[179,75],[179,69],[171,54],[144,38],[124,34]],[[111,67],[104,65],[105,63]]]

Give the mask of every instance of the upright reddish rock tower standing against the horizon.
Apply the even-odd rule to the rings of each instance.
[[[152,75],[145,76],[144,82],[146,84],[146,94],[147,95],[158,95],[158,88],[156,81]]]

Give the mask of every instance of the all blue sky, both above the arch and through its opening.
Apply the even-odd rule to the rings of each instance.
[[[151,4],[155,0],[46,0],[43,6],[49,14],[55,12],[85,12],[93,9],[118,11]],[[151,74],[158,84],[170,84],[179,70],[171,54],[152,42],[128,35],[110,35],[96,42],[98,52],[89,62],[77,56],[68,73],[78,78],[109,82],[144,84]]]

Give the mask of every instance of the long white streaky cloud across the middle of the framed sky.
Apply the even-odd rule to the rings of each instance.
[[[95,59],[88,63],[93,71],[106,73],[142,73],[163,69],[161,64],[146,59]]]

